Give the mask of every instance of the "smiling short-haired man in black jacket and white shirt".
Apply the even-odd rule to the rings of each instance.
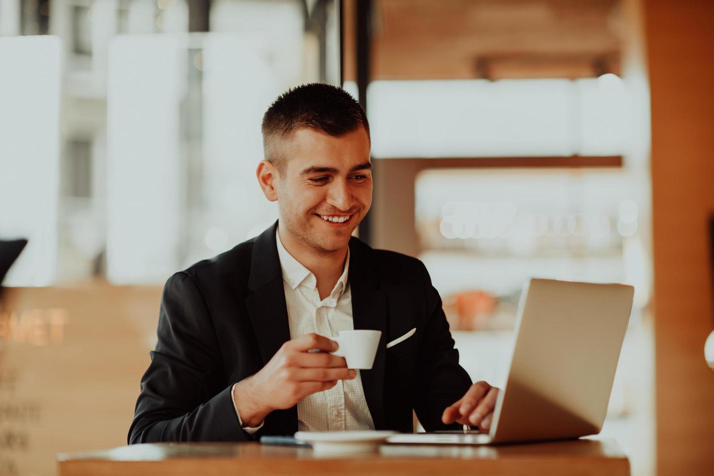
[[[412,410],[426,430],[487,429],[498,389],[458,365],[424,265],[351,237],[371,206],[363,108],[308,84],[268,108],[262,131],[256,175],[278,222],[166,282],[129,443],[411,432]],[[381,330],[371,370],[329,353],[351,329]]]

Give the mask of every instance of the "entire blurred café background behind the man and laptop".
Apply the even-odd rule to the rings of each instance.
[[[424,261],[471,378],[528,278],[634,285],[601,435],[714,474],[714,2],[0,0],[0,475],[126,444],[162,285],[276,220],[261,118],[307,82],[365,106],[359,236]]]

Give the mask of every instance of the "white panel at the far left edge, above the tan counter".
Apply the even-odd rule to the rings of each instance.
[[[0,38],[0,238],[29,238],[5,285],[57,271],[60,58],[56,36]]]

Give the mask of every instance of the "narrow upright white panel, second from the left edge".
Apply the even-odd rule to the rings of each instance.
[[[181,243],[178,36],[122,36],[109,51],[107,277],[156,283],[178,270]]]

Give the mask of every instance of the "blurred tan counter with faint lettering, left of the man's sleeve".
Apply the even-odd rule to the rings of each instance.
[[[4,289],[0,475],[53,475],[59,451],[126,443],[160,298],[101,282]]]

